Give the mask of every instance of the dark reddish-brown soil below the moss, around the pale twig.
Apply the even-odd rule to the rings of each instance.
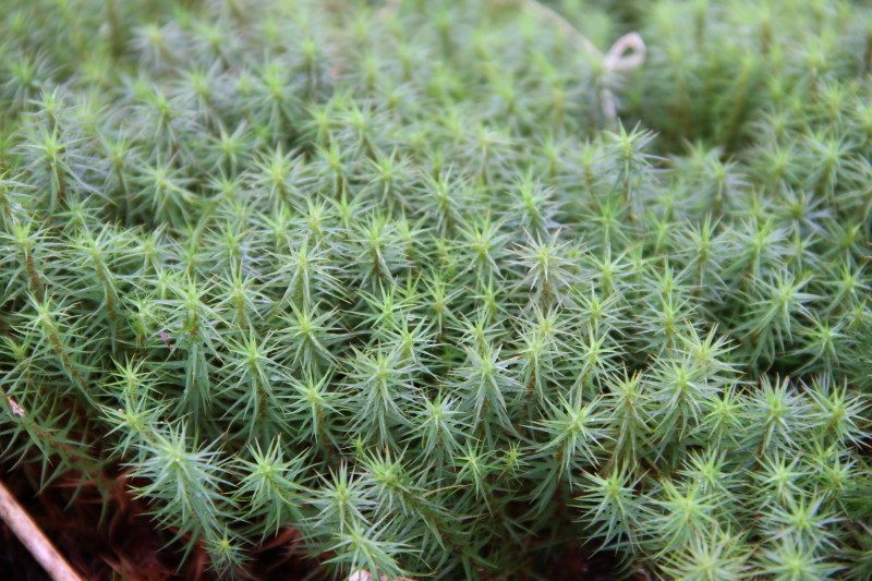
[[[77,495],[78,474],[68,474],[37,494],[39,465],[11,469],[0,463],[0,477],[59,552],[88,581],[210,581],[205,553],[195,547],[180,568],[180,543],[170,531],[156,530],[147,507],[129,489],[123,474],[112,479],[105,500],[93,483]],[[73,499],[71,501],[71,498]],[[105,507],[105,508],[104,508]],[[299,535],[284,530],[255,552],[252,579],[312,578],[316,564],[295,550]],[[0,521],[0,578],[5,581],[49,581],[39,565]]]

